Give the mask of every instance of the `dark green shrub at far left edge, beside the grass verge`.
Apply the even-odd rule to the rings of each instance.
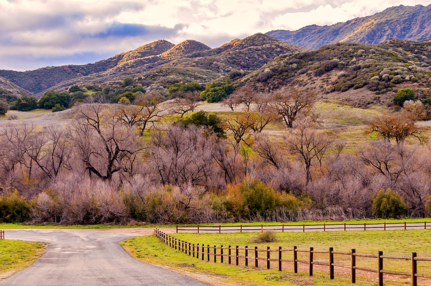
[[[0,223],[19,223],[28,220],[32,202],[20,196],[17,190],[0,197]]]

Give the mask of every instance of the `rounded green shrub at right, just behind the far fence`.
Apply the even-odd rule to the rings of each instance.
[[[406,204],[399,193],[382,189],[372,201],[372,210],[379,218],[394,218],[406,211]]]

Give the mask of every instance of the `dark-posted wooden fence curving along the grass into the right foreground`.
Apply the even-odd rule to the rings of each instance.
[[[271,261],[277,262],[278,270],[281,271],[282,262],[293,262],[294,264],[294,273],[298,273],[298,263],[308,264],[309,266],[309,276],[313,275],[313,265],[324,265],[328,266],[329,277],[334,279],[334,267],[344,267],[350,269],[350,281],[351,283],[356,283],[356,270],[363,270],[368,272],[376,272],[378,273],[378,285],[383,285],[383,274],[393,274],[393,275],[402,275],[411,277],[412,286],[417,285],[417,277],[425,277],[431,278],[431,274],[420,274],[417,273],[417,261],[431,261],[431,257],[419,257],[415,252],[412,253],[411,256],[390,256],[383,255],[383,252],[379,251],[377,255],[373,254],[362,254],[356,253],[355,249],[351,249],[350,252],[341,252],[334,251],[332,247],[330,247],[326,251],[318,251],[314,250],[312,247],[309,249],[297,249],[294,246],[291,249],[283,249],[281,246],[278,246],[277,249],[270,249],[269,246],[266,249],[258,249],[257,246],[248,247],[244,246],[239,248],[238,246],[209,246],[199,243],[195,244],[192,242],[183,241],[181,239],[177,239],[174,236],[170,236],[161,230],[155,228],[154,229],[155,236],[169,247],[174,248],[175,250],[179,250],[184,252],[186,255],[196,257],[196,259],[201,259],[202,261],[213,261],[217,262],[217,257],[219,257],[219,261],[223,263],[224,258],[228,259],[228,264],[233,264],[232,258],[235,260],[235,264],[239,265],[239,258],[244,258],[245,266],[249,266],[249,260],[254,261],[254,267],[259,267],[259,261],[263,261],[266,264],[266,268],[270,269]],[[225,250],[228,252],[226,253]],[[240,255],[241,251],[241,255]],[[271,253],[275,253],[272,255]],[[308,260],[300,260],[298,259],[298,252],[306,252],[308,253]],[[290,253],[290,258],[283,258],[284,253]],[[326,253],[328,255],[327,261],[315,261],[313,258],[314,253]],[[350,256],[350,264],[336,263],[334,262],[334,254],[335,255],[348,255]],[[251,255],[251,256],[250,256]],[[274,258],[275,256],[275,258]],[[369,267],[360,267],[356,266],[356,257],[368,257],[368,258],[376,258],[377,268],[369,268]],[[403,271],[393,271],[393,270],[385,270],[383,269],[383,259],[400,259],[410,261],[411,271],[403,272]]]

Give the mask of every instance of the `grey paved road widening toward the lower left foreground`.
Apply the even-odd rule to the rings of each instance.
[[[6,239],[50,242],[31,266],[0,285],[208,285],[132,258],[119,241],[152,229],[6,230]]]

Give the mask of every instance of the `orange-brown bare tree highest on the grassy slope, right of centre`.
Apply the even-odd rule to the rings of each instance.
[[[312,116],[312,107],[317,99],[313,92],[297,90],[293,87],[284,87],[274,94],[272,105],[281,121],[287,128],[294,127],[298,116]]]

